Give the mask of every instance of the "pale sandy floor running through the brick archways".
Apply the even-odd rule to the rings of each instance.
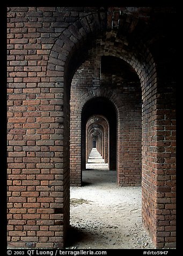
[[[107,169],[104,163],[88,163],[83,187],[70,188],[67,248],[155,248],[142,226],[141,187],[118,187],[116,172]]]

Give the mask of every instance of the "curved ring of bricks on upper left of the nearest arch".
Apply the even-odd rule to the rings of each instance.
[[[47,76],[64,76],[67,72],[67,63],[69,59],[77,51],[82,51],[86,42],[92,41],[91,38],[96,38],[102,31],[105,31],[104,25],[105,15],[100,15],[98,12],[90,13],[89,15],[78,18],[74,23],[63,30],[53,45],[48,62]],[[80,54],[82,56],[82,54]],[[60,71],[63,70],[63,74]]]

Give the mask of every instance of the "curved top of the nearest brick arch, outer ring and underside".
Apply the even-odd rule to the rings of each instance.
[[[117,20],[115,20],[115,23],[119,24],[118,30],[116,28],[114,29],[114,26],[111,25],[114,23],[114,17],[118,17]],[[103,47],[103,38],[106,33],[107,38],[111,37],[112,40],[116,38],[116,44],[118,46],[114,46],[114,42],[111,44],[111,41],[107,40],[108,45],[105,48],[103,47],[105,54],[118,56],[129,63],[129,65],[135,69],[141,83],[145,83],[147,86],[148,79],[150,79],[152,74],[156,74],[156,67],[153,65],[153,63],[155,63],[153,56],[148,47],[145,47],[141,41],[138,41],[137,45],[134,47],[130,47],[130,50],[125,49],[124,45],[128,44],[127,38],[122,37],[122,33],[119,34],[118,31],[123,30],[122,27],[125,23],[128,24],[128,16],[126,13],[123,15],[119,15],[118,13],[118,15],[114,17],[112,20],[108,21],[106,27],[106,12],[103,12],[101,15],[99,15],[98,12],[94,12],[76,20],[66,27],[60,37],[55,41],[50,51],[47,62],[47,76],[57,76],[62,78],[67,76],[67,79],[71,82],[72,76],[77,68],[90,54],[90,51],[93,51],[92,47],[96,47],[97,51],[97,45]],[[137,24],[136,17],[130,18],[131,24],[133,24],[133,22]],[[107,32],[108,29],[112,29],[112,32]],[[145,31],[145,28],[143,30]],[[129,30],[129,32],[131,31]],[[143,31],[141,31],[141,33],[143,33]],[[94,42],[94,44],[92,44],[92,42]],[[87,48],[85,45],[87,45]],[[79,51],[83,51],[83,54],[80,54]],[[113,51],[113,53],[111,51]],[[72,58],[74,61],[76,61],[77,58],[75,65],[70,63],[74,62]],[[151,70],[151,72],[149,72],[149,70]],[[67,72],[70,75],[68,75]]]

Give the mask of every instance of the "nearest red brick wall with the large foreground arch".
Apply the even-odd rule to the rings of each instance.
[[[148,11],[82,8],[77,18],[64,19],[59,25],[55,24],[56,17],[61,16],[60,11],[63,15],[62,8],[8,9],[10,245],[26,247],[31,243],[32,247],[50,248],[64,245],[69,226],[70,85],[77,68],[95,47],[100,55],[103,49],[104,55],[125,60],[141,81],[143,223],[157,247],[173,247],[175,47],[170,38],[173,8],[168,14],[163,8],[148,8]],[[164,44],[159,44],[161,35],[171,46],[164,48]],[[166,49],[170,62],[165,58]],[[31,180],[33,177],[35,180]],[[32,215],[29,208],[33,202]],[[15,224],[14,211],[26,226],[19,233],[14,229],[20,227]],[[49,230],[32,232],[32,225]]]

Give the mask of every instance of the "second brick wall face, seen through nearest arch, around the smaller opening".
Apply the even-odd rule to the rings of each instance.
[[[90,59],[90,61],[92,63],[91,59]],[[106,90],[103,87],[99,88],[97,86],[97,84],[95,86],[92,86],[92,77],[93,76],[98,77],[100,74],[99,73],[100,72],[100,69],[99,69],[100,55],[99,56],[94,55],[94,61],[95,61],[94,73],[91,72],[89,63],[85,62],[83,64],[83,66],[80,69],[78,69],[78,72],[74,76],[74,83],[72,83],[74,91],[73,91],[73,93],[71,93],[71,109],[72,109],[72,111],[71,111],[71,127],[72,127],[72,122],[75,123],[75,125],[77,127],[78,127],[79,123],[81,122],[80,112],[88,98],[92,99],[95,97],[106,97],[106,98],[111,99],[111,101],[115,105],[116,111],[118,112],[118,115],[117,115],[118,116],[117,117],[118,132],[117,132],[117,134],[118,134],[118,136],[120,136],[120,134],[121,134],[121,141],[118,141],[118,150],[116,151],[117,152],[117,172],[120,173],[118,183],[120,184],[120,186],[134,186],[134,185],[137,186],[137,184],[138,184],[138,186],[140,186],[140,184],[141,184],[141,125],[140,125],[140,123],[141,123],[141,89],[140,89],[140,83],[138,81],[135,82],[136,83],[135,87],[134,87],[134,89],[136,90],[135,94],[139,95],[139,96],[137,98],[136,106],[133,106],[134,102],[131,101],[130,98],[136,97],[135,95],[134,96],[131,95],[129,98],[131,103],[129,103],[129,102],[127,103],[125,98],[119,97],[119,95],[118,95],[119,91],[114,92],[113,88],[108,88]],[[87,76],[85,73],[87,74]],[[82,75],[84,77],[87,77],[87,80],[82,79],[81,83],[80,83],[79,76],[82,76]],[[84,93],[84,91],[83,91],[82,94],[79,94],[77,88],[80,86],[80,88],[82,88],[82,90],[83,90],[83,88],[84,88],[83,82],[85,84],[87,84],[87,86],[85,87],[86,93]],[[95,83],[98,83],[98,80],[96,80]],[[90,84],[90,86],[89,86],[89,84]],[[139,88],[138,88],[138,86],[139,86]],[[134,89],[132,89],[132,90],[134,90]],[[124,90],[126,90],[126,89],[124,89]],[[127,91],[128,91],[128,87],[127,87]],[[126,94],[124,94],[124,96],[125,95]],[[134,111],[136,111],[136,114],[134,115],[133,112],[131,112],[130,108],[128,109],[128,111],[131,112],[130,113],[131,117],[129,120],[127,120],[127,117],[126,117],[126,116],[128,116],[127,109],[126,109],[127,104],[130,106],[130,108],[134,108]],[[137,119],[135,119],[135,118],[137,118]],[[127,138],[129,138],[128,123],[132,122],[132,119],[134,119],[134,122],[135,122],[134,127],[136,126],[136,130],[130,131],[131,141],[130,141],[130,145],[129,145],[129,139],[127,139]],[[125,124],[126,124],[126,127],[125,127]],[[77,143],[77,140],[80,141],[79,137],[76,138],[76,132],[75,132],[76,129],[77,128],[74,129],[74,138],[75,138],[74,144]],[[138,135],[137,135],[137,130],[138,130]],[[78,132],[79,131],[77,131],[77,133]],[[72,134],[72,129],[71,129],[71,134]],[[134,134],[136,134],[136,135],[134,136]],[[78,134],[78,136],[79,136],[79,134]],[[136,136],[138,137],[137,140],[136,140]],[[135,140],[133,142],[132,142],[132,138],[135,138]],[[72,144],[72,135],[71,135],[71,144]],[[71,145],[71,147],[72,147],[72,145]],[[131,147],[130,151],[128,150],[129,147]],[[138,148],[138,152],[136,151],[137,148]],[[79,155],[80,154],[79,148],[78,148],[77,152]],[[71,161],[72,161],[72,158],[74,158],[74,161],[75,161],[75,153],[76,152],[71,152]],[[73,157],[72,157],[72,155],[73,155]],[[129,156],[129,158],[127,157],[127,155]],[[120,159],[120,157],[121,157],[121,159]],[[76,161],[75,161],[75,165],[71,165],[71,172],[72,172],[72,168],[73,168],[73,170],[75,170],[75,169],[78,170],[80,168],[79,158],[77,158],[77,161],[78,161],[77,167],[76,167]],[[109,163],[110,163],[110,161],[109,161]],[[84,166],[83,166],[83,168],[84,168]],[[109,169],[115,169],[115,168],[114,168],[114,166],[113,167],[109,166]],[[133,172],[131,172],[130,169],[134,169]],[[127,173],[125,173],[125,170]],[[129,170],[130,170],[130,173],[129,173]],[[133,178],[133,181],[131,180],[131,183],[130,183],[129,177],[131,179],[131,173],[133,173],[134,178]]]

